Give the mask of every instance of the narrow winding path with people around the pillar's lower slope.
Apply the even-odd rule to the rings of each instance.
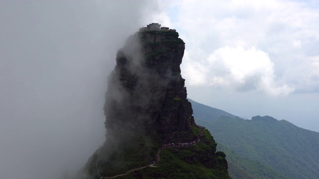
[[[200,142],[200,139],[199,139],[199,136],[202,136],[204,135],[204,130],[203,130],[203,127],[199,126],[199,125],[196,125],[197,128],[199,128],[200,130],[200,133],[198,134],[198,138],[196,141],[193,141],[193,142],[184,142],[184,143],[169,143],[169,144],[164,144],[160,147],[158,153],[157,153],[157,157],[156,157],[156,160],[153,161],[152,164],[150,165],[147,165],[147,166],[144,166],[144,167],[140,167],[140,168],[136,168],[136,169],[132,169],[130,171],[128,171],[127,173],[125,174],[120,174],[120,175],[117,175],[117,176],[114,176],[114,177],[100,177],[100,179],[113,179],[113,178],[116,178],[116,177],[120,177],[120,176],[125,176],[133,171],[136,171],[136,170],[141,170],[141,169],[144,169],[146,167],[157,167],[155,166],[155,164],[157,164],[158,162],[160,162],[160,152],[162,149],[164,148],[172,148],[172,147],[190,147],[190,146],[194,146],[196,145],[198,142]],[[98,170],[98,174],[99,174],[99,169],[97,168]]]

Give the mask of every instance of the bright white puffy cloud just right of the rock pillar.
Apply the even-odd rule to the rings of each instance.
[[[293,86],[276,81],[274,63],[267,53],[255,47],[219,48],[201,63],[186,65],[184,73],[189,85],[194,86],[238,91],[257,89],[270,95],[287,95],[294,91]]]

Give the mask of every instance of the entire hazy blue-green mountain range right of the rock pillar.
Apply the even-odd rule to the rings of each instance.
[[[319,133],[270,116],[245,120],[189,100],[224,151],[232,179],[319,179]]]

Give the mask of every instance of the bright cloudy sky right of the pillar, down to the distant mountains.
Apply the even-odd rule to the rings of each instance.
[[[319,132],[319,0],[180,0],[161,22],[186,43],[188,97]]]

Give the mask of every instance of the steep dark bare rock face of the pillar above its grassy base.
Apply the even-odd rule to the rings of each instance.
[[[180,75],[184,48],[175,31],[142,31],[118,51],[104,107],[108,142],[128,130],[185,141],[174,136],[194,124]]]

